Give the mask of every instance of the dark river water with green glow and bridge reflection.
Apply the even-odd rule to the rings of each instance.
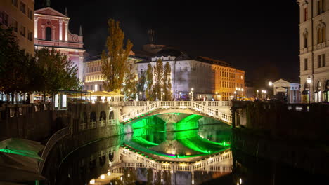
[[[161,124],[134,128],[72,153],[56,184],[314,184],[327,181],[231,149],[225,123],[166,132]],[[328,181],[327,181],[328,182]],[[327,184],[327,183],[325,183]]]

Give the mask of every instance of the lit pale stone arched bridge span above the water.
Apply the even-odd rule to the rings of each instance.
[[[152,114],[182,112],[200,114],[224,121],[231,125],[231,101],[157,101],[157,102],[123,102],[126,114],[120,116],[121,123]]]

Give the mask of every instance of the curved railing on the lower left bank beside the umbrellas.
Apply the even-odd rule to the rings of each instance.
[[[41,155],[41,158],[43,158],[44,161],[39,162],[38,171],[40,174],[42,174],[42,170],[44,169],[44,163],[46,162],[49,152],[51,151],[51,149],[53,149],[53,146],[56,144],[56,142],[58,142],[60,139],[62,139],[63,137],[69,134],[70,134],[70,129],[68,127],[63,128],[55,132],[55,134],[53,134],[51,138],[48,140],[46,146],[44,147],[44,151],[42,151],[42,155]]]

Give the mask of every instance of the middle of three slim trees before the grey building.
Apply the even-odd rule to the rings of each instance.
[[[155,93],[154,96],[157,97],[157,99],[160,99],[162,93],[161,88],[163,88],[163,64],[161,59],[157,60],[157,63],[155,64],[154,79],[155,84],[153,93]]]

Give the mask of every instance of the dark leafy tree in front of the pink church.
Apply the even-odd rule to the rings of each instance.
[[[78,90],[77,66],[66,55],[54,49],[41,48],[34,51],[34,90],[54,95],[60,89]]]

